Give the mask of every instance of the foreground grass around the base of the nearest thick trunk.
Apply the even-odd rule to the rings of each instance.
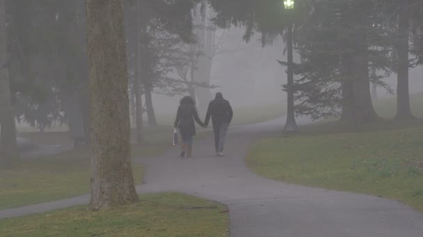
[[[119,209],[74,207],[0,220],[0,236],[228,236],[221,204],[177,193],[141,195]]]

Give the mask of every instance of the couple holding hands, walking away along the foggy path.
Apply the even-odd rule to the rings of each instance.
[[[195,122],[202,128],[207,128],[210,118],[212,118],[214,132],[214,148],[216,155],[223,156],[223,145],[225,143],[226,132],[228,132],[229,124],[232,121],[232,107],[228,100],[223,98],[221,92],[216,93],[216,98],[212,100],[207,109],[205,123],[202,123],[198,117],[195,101],[191,96],[182,98],[177,109],[175,119],[175,128],[179,129],[182,137],[181,157],[191,157],[193,150],[193,137],[195,136]]]

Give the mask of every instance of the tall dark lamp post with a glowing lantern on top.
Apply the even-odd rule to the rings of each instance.
[[[284,0],[283,1],[285,10],[287,12],[291,12],[294,9],[294,0]],[[289,16],[290,18],[291,16]],[[292,28],[293,28],[293,21],[289,19],[289,26],[287,29],[287,47],[288,47],[288,69],[287,69],[287,76],[288,76],[288,83],[287,83],[287,94],[288,94],[288,108],[287,108],[287,123],[285,124],[285,128],[283,132],[287,134],[297,133],[298,125],[295,121],[295,114],[294,114],[294,71],[292,67],[294,66],[294,60],[292,59]]]

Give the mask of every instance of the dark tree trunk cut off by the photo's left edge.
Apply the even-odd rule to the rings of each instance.
[[[19,152],[7,68],[8,42],[6,40],[5,1],[0,0],[0,168],[12,168],[19,164]]]

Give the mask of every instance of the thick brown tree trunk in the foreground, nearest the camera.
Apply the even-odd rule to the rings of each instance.
[[[138,201],[131,169],[122,0],[87,0],[91,200],[99,210]]]

